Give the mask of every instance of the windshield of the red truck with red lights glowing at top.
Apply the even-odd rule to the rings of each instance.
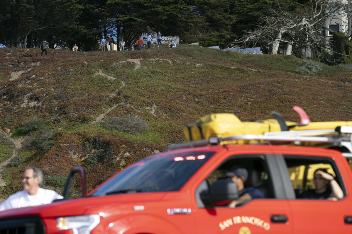
[[[214,152],[193,152],[141,160],[111,178],[90,196],[177,191]]]

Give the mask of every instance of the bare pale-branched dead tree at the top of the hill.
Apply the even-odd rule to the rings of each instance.
[[[343,0],[310,0],[310,7],[297,9],[288,13],[281,7],[268,6],[269,15],[260,18],[258,27],[246,30],[245,35],[239,37],[232,45],[251,42],[268,45],[272,54],[278,52],[280,43],[299,48],[318,48],[331,51],[329,40],[323,40],[321,27],[329,32],[333,30],[325,27],[325,21],[336,17],[336,9],[344,9]],[[348,0],[349,2],[351,0]],[[286,52],[285,54],[290,54]]]

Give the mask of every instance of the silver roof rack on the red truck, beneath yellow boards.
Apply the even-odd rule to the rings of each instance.
[[[263,135],[238,135],[224,138],[214,136],[200,141],[169,145],[168,149],[230,144],[303,144],[323,148],[344,147],[349,152],[344,153],[343,155],[345,157],[352,157],[351,136],[352,126],[340,126],[336,129],[265,132]]]

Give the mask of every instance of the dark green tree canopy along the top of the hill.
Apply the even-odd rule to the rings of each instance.
[[[255,30],[269,14],[268,6],[294,13],[310,4],[309,0],[1,1],[0,44],[31,48],[46,39],[50,48],[77,44],[80,50],[91,51],[99,49],[102,35],[113,35],[117,43],[124,38],[130,47],[143,32],[161,31],[179,35],[183,43],[224,48]]]

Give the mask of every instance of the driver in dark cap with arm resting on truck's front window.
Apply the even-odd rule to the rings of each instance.
[[[248,178],[248,171],[243,167],[233,167],[229,171],[227,171],[226,176],[230,178],[234,183],[237,184],[239,198],[237,200],[232,201],[228,207],[234,208],[239,206],[247,201],[252,200],[253,198],[264,198],[263,193],[256,188],[253,187],[244,187],[244,183]]]

